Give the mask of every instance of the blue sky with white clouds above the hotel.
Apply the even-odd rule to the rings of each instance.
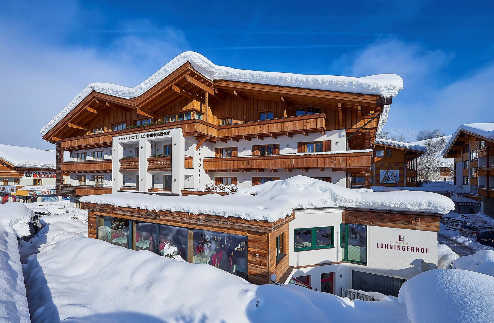
[[[149,3],[148,3],[149,2]],[[493,122],[494,4],[476,1],[12,1],[0,11],[2,144],[88,83],[135,86],[186,50],[239,69],[366,76],[405,88],[386,128]]]

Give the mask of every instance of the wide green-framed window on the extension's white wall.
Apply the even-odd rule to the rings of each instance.
[[[295,229],[295,251],[333,248],[334,227]]]

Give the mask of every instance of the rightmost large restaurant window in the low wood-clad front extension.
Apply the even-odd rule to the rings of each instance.
[[[206,230],[193,233],[192,262],[207,263],[247,278],[247,237]]]

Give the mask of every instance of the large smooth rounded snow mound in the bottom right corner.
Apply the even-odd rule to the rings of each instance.
[[[406,281],[398,300],[407,307],[411,323],[479,323],[494,322],[493,294],[492,276],[435,269]]]

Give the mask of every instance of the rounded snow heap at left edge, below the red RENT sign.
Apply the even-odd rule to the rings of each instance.
[[[22,203],[0,204],[0,225],[9,225],[18,237],[29,236],[29,223],[34,211]]]

